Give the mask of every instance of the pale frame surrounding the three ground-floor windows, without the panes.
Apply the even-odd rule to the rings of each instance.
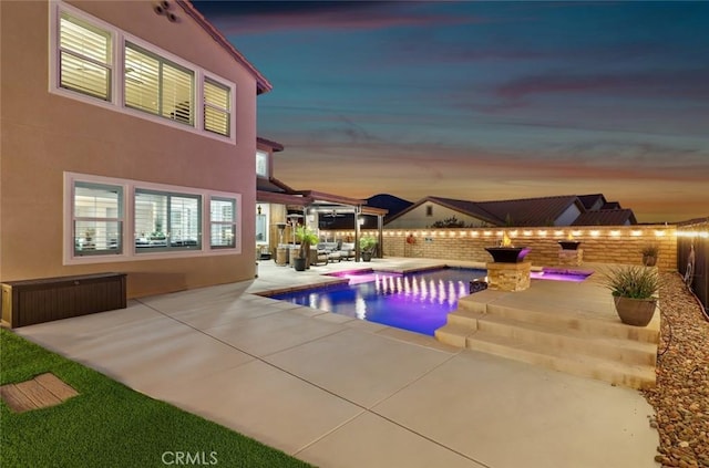
[[[75,183],[88,183],[116,186],[122,188],[123,194],[123,221],[122,242],[123,249],[120,253],[93,253],[91,256],[76,256],[74,253],[74,186]],[[164,191],[175,195],[199,196],[201,197],[201,237],[202,245],[195,249],[167,249],[160,251],[137,251],[135,247],[135,190],[145,189],[152,191]],[[212,232],[210,200],[230,199],[235,200],[234,247],[212,248],[209,233]],[[210,256],[234,256],[242,254],[242,240],[244,232],[244,219],[242,210],[242,194],[216,191],[209,189],[179,187],[165,184],[153,184],[133,179],[121,179],[113,177],[94,176],[79,173],[64,173],[64,232],[63,232],[63,264],[86,264],[86,263],[113,263],[140,260],[157,260],[186,257],[210,257]],[[209,239],[207,241],[207,239]]]

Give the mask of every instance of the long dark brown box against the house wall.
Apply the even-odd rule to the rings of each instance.
[[[2,320],[11,327],[125,309],[125,273],[2,283]]]

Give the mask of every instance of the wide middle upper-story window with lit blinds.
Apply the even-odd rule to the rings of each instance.
[[[127,107],[194,126],[192,70],[126,42],[124,71]]]

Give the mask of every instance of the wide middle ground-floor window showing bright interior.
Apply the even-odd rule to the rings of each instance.
[[[135,190],[137,252],[202,248],[202,197]]]

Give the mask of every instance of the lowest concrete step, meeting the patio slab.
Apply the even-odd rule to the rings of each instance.
[[[559,352],[547,345],[524,343],[484,331],[467,336],[465,347],[630,388],[651,388],[656,382],[654,365],[625,364],[585,354]]]

